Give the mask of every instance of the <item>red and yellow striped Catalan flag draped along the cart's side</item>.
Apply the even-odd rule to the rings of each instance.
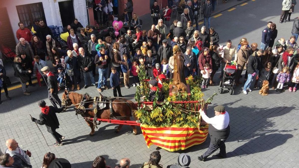
[[[200,129],[189,126],[154,127],[144,124],[140,127],[148,148],[156,145],[170,152],[201,144],[208,136],[208,125]]]

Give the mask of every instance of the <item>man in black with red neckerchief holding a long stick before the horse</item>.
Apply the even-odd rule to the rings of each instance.
[[[33,117],[31,117],[31,120],[35,123],[38,123],[39,125],[46,125],[47,131],[51,133],[56,139],[56,143],[54,143],[54,146],[61,146],[61,141],[65,137],[56,132],[56,129],[59,128],[59,121],[56,113],[62,112],[63,108],[47,106],[44,100],[40,100],[37,104],[41,108],[42,112],[39,114],[39,120]]]

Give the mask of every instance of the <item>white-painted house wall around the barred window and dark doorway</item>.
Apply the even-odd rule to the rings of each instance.
[[[45,18],[48,26],[62,26],[58,5],[58,2],[61,1],[67,0],[42,0],[42,5],[44,7]],[[38,2],[41,2],[41,0],[0,0],[0,6],[7,8],[7,13],[16,42],[18,42],[16,38],[16,31],[19,29],[19,16],[16,10],[16,6]],[[73,4],[75,17],[85,27],[86,25],[88,25],[86,0],[73,0]]]

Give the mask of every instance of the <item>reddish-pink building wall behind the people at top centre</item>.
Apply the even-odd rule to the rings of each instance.
[[[127,0],[119,0],[118,11],[120,15],[123,13],[123,9],[125,8],[124,5],[122,5],[124,3],[127,3]],[[150,13],[149,0],[133,0],[133,9],[133,13],[137,13],[138,16]]]

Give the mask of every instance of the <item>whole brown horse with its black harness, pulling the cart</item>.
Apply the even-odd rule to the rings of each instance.
[[[86,103],[85,103],[86,102]],[[105,102],[105,103],[103,103]],[[137,106],[130,100],[122,98],[106,98],[101,94],[99,97],[91,98],[88,94],[79,94],[76,92],[69,92],[65,90],[62,95],[62,103],[65,106],[74,105],[76,109],[76,115],[80,114],[84,117],[84,120],[91,128],[90,136],[94,135],[94,127],[99,125],[96,119],[119,119],[119,120],[130,120],[133,111],[137,110]],[[93,121],[87,118],[94,118]],[[135,117],[136,118],[136,117]],[[119,125],[115,130],[116,133],[120,132],[123,125]],[[131,125],[133,128],[133,134],[137,134],[135,126]]]

